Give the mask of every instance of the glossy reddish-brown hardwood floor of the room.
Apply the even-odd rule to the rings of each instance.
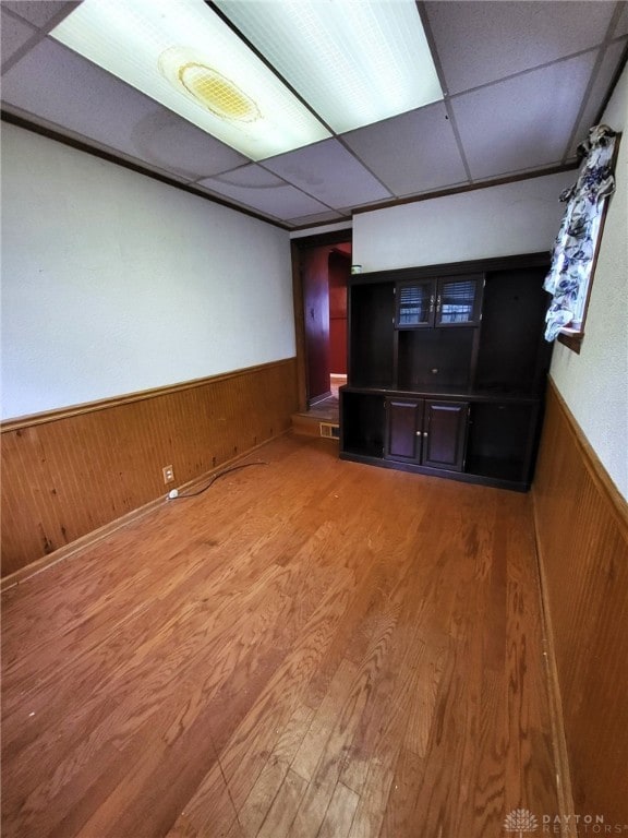
[[[256,457],[4,592],[4,838],[555,813],[529,498],[327,440]]]

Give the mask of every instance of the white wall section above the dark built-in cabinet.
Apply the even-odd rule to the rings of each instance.
[[[563,172],[428,199],[353,218],[354,263],[363,271],[550,251],[573,182]]]

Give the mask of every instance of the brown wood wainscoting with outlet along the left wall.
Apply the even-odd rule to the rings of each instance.
[[[297,407],[289,358],[5,422],[2,577],[283,433]]]

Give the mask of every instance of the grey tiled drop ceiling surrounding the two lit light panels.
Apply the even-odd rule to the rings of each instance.
[[[75,5],[2,0],[5,118],[287,229],[575,165],[628,44],[624,1],[418,3],[443,100],[253,163],[50,37]]]

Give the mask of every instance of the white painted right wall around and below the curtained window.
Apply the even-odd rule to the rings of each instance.
[[[628,500],[628,68],[602,119],[623,131],[580,355],[556,344],[551,374]]]

